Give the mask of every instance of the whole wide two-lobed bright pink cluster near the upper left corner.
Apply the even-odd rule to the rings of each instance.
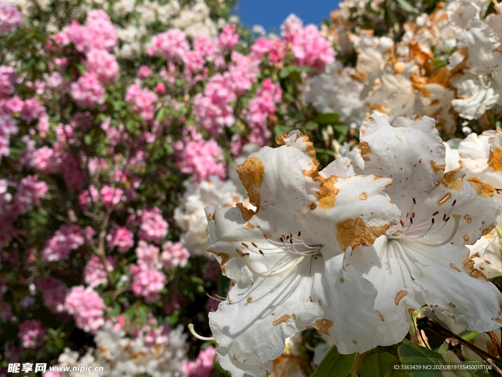
[[[73,43],[77,51],[86,53],[91,48],[111,51],[118,36],[106,12],[94,9],[87,14],[85,26],[73,21],[54,40],[61,45]]]

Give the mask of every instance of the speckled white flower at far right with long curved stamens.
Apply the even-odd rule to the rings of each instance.
[[[374,308],[388,326],[383,345],[401,341],[408,310],[423,305],[473,331],[502,323],[502,297],[464,246],[493,229],[500,206],[480,184],[458,179],[462,173],[443,175],[445,147],[434,123],[412,116],[391,126],[374,114],[360,129],[364,173],[393,178],[386,192],[402,212],[398,225],[349,258],[378,291]]]

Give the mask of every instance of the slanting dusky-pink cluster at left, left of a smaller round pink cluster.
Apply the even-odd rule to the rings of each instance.
[[[70,251],[84,244],[84,237],[80,228],[76,225],[62,225],[49,238],[42,250],[42,258],[45,262],[68,260]]]

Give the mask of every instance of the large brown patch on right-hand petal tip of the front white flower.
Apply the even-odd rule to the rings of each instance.
[[[391,225],[389,223],[371,227],[364,224],[362,217],[357,217],[355,220],[347,219],[336,224],[338,231],[336,240],[342,250],[346,250],[349,246],[352,249],[359,245],[371,246]]]

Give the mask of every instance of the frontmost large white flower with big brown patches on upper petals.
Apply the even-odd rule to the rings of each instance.
[[[348,159],[318,172],[313,145],[299,131],[277,142],[237,166],[256,212],[206,208],[208,251],[235,282],[209,314],[221,365],[233,375],[264,375],[285,339],[307,326],[351,353],[379,344],[367,334],[383,325],[373,287],[346,258],[398,221],[382,195],[392,180],[353,175]]]

